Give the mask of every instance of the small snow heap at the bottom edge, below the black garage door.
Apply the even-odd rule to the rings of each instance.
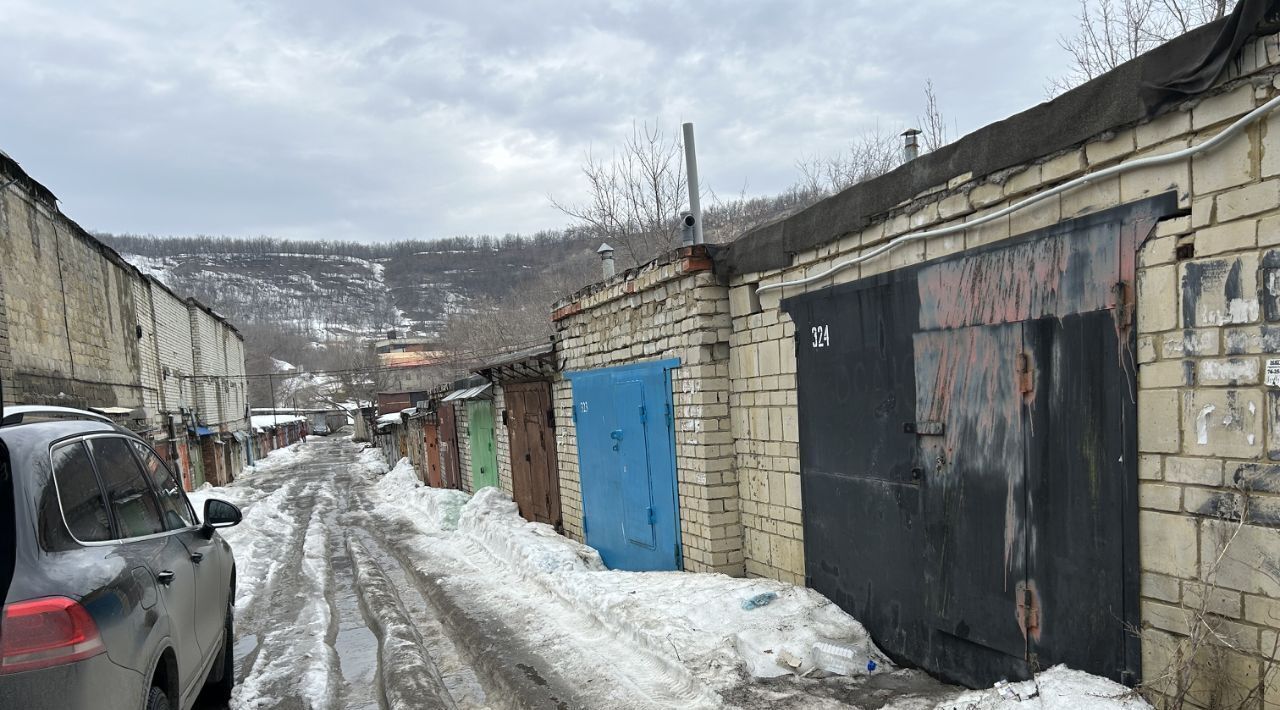
[[[1119,683],[1055,665],[1033,681],[966,691],[934,710],[1151,710],[1151,705]]]

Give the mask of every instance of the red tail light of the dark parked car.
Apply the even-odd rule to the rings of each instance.
[[[63,665],[106,650],[97,624],[64,596],[19,601],[0,619],[0,675]]]

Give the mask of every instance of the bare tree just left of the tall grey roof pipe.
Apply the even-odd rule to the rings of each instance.
[[[685,164],[678,139],[657,124],[632,124],[622,148],[605,161],[588,152],[582,164],[585,202],[552,206],[643,264],[675,246],[676,223],[686,203]]]

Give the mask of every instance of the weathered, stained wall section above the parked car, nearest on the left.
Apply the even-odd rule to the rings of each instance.
[[[137,271],[28,184],[0,191],[12,399],[141,407]]]

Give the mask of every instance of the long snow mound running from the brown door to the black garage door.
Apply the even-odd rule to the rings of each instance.
[[[741,667],[758,678],[806,673],[815,668],[818,641],[891,668],[863,626],[813,590],[724,574],[609,571],[594,549],[524,521],[498,489],[483,489],[467,503],[458,531],[612,632],[655,654],[675,651],[713,686],[737,682]],[[765,605],[745,608],[771,594]]]

